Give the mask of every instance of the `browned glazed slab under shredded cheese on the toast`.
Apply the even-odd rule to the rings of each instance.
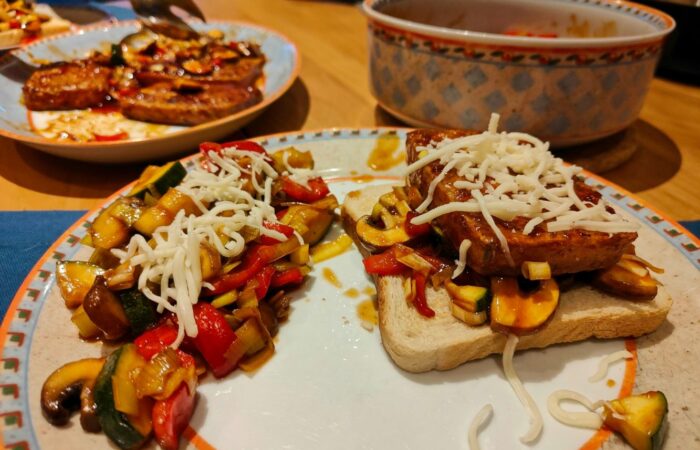
[[[438,142],[445,138],[457,138],[473,134],[466,131],[416,130],[408,134],[406,150],[409,164],[418,159],[416,147]],[[428,186],[442,171],[439,162],[414,172],[409,184],[418,188],[421,195],[428,192]],[[437,185],[430,207],[435,208],[454,201],[466,201],[470,195],[452,186],[458,179],[456,174],[448,174]],[[591,203],[600,201],[600,194],[582,181],[576,181],[576,195]],[[525,261],[546,261],[554,275],[577,273],[602,269],[613,265],[625,247],[637,238],[637,233],[600,233],[586,230],[548,232],[543,225],[535,227],[532,233],[521,233],[527,223],[524,217],[512,222],[495,219],[504,234],[514,265],[508,263],[505,252],[496,235],[481,214],[450,213],[438,217],[436,224],[444,231],[450,243],[458,249],[463,240],[472,245],[467,254],[467,265],[482,275],[509,275],[520,273]]]

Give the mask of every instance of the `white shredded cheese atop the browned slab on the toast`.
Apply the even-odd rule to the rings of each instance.
[[[541,224],[549,232],[579,229],[619,233],[637,229],[619,214],[610,213],[602,199],[593,204],[576,195],[574,179],[581,172],[580,167],[555,158],[549,152],[549,143],[534,136],[499,133],[498,121],[499,115],[492,114],[488,130],[483,133],[416,148],[423,156],[408,166],[407,175],[434,161],[443,169],[428,187],[423,203],[416,208],[421,215],[412,220],[413,224],[428,223],[453,212],[480,213],[511,265],[508,242],[494,219],[506,222],[518,216],[529,219],[523,234],[530,234]],[[428,211],[435,188],[451,171],[459,176],[453,186],[467,191],[469,199]]]

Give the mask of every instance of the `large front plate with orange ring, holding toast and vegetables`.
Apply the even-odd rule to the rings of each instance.
[[[257,140],[272,151],[288,146],[311,151],[317,170],[342,201],[348,192],[368,184],[400,182],[407,131],[327,129]],[[384,157],[378,161],[377,156]],[[196,156],[183,162],[191,168]],[[585,177],[641,224],[638,253],[664,267],[659,279],[674,298],[674,307],[661,328],[647,337],[518,352],[516,370],[544,418],[542,436],[533,448],[594,449],[604,442],[606,448],[627,448],[609,431],[571,428],[555,421],[546,403],[557,389],[573,389],[591,399],[661,390],[669,400],[668,448],[682,447],[695,433],[686,407],[694,409],[700,400],[695,375],[700,362],[687,353],[692,351],[688,343],[696,339],[693,325],[700,311],[691,288],[700,285],[700,242],[623,189],[590,173]],[[79,241],[96,214],[86,214],[66,230],[37,262],[3,321],[0,437],[6,448],[56,448],[59,440],[63,448],[110,448],[103,434],[84,433],[77,417],[70,426],[52,427],[39,405],[41,385],[53,370],[106,351],[100,343],[77,337],[54,275],[56,261],[89,255],[90,249]],[[327,239],[342,232],[336,224]],[[520,446],[518,438],[528,428],[528,417],[503,375],[499,357],[424,374],[404,372],[392,363],[376,325],[371,326],[375,292],[361,261],[351,247],[314,266],[304,287],[294,292],[290,318],[276,338],[276,354],[261,369],[201,381],[183,446],[466,449],[469,423],[485,403],[493,405],[494,416],[479,435],[482,448]],[[600,359],[622,349],[634,358],[612,364],[604,380],[590,383]]]

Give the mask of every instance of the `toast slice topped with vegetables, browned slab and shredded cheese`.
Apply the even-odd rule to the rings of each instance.
[[[651,333],[672,302],[651,275],[663,270],[636,255],[636,225],[581,169],[497,125],[494,114],[483,133],[409,132],[405,185],[351,192],[342,215],[377,285],[394,362],[425,372],[502,353],[530,443],[543,421],[516,348]]]

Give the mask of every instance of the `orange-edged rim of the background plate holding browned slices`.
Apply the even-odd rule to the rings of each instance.
[[[199,23],[199,22],[195,22]],[[94,32],[101,32],[101,31],[106,31],[109,29],[114,29],[114,28],[127,28],[127,27],[132,27],[134,25],[138,25],[139,22],[138,20],[106,20],[106,21],[101,21],[97,22],[94,24],[78,27],[75,29],[70,29],[66,32],[63,33],[58,33],[55,35],[51,36],[45,36],[43,38],[37,39],[36,41],[33,41],[29,44],[23,45],[15,50],[12,50],[7,53],[7,57],[10,56],[19,56],[23,53],[27,53],[31,51],[31,48],[37,45],[43,45],[46,44],[47,42],[55,41],[55,40],[60,40],[64,38],[68,38],[71,36],[75,35],[80,35],[80,34],[85,34],[85,33],[94,33]],[[239,120],[243,117],[247,117],[249,115],[254,115],[254,114],[259,114],[262,112],[265,108],[270,106],[272,103],[277,101],[282,95],[284,95],[291,87],[292,84],[297,80],[299,77],[299,72],[301,71],[301,54],[299,52],[299,47],[296,45],[294,41],[289,39],[286,35],[278,32],[277,30],[273,30],[272,28],[268,28],[266,26],[257,24],[257,23],[252,23],[252,22],[246,22],[242,20],[210,20],[208,22],[205,22],[206,25],[221,25],[221,26],[228,26],[228,27],[240,27],[240,28],[248,28],[252,30],[256,30],[260,32],[262,35],[270,35],[274,36],[277,39],[279,39],[281,42],[283,42],[286,46],[288,46],[292,53],[293,53],[293,66],[290,71],[290,73],[287,75],[287,79],[285,82],[280,86],[276,91],[272,92],[271,95],[269,96],[263,96],[263,99],[260,103],[256,103],[255,105],[250,106],[249,108],[245,108],[239,112],[236,112],[234,114],[230,114],[225,117],[221,117],[219,119],[211,120],[209,122],[204,122],[199,125],[194,125],[194,126],[189,126],[185,127],[182,130],[174,131],[172,133],[166,133],[161,136],[156,136],[156,137],[146,137],[146,138],[137,138],[137,139],[127,139],[123,141],[106,141],[106,142],[96,142],[96,141],[90,141],[90,142],[73,142],[73,141],[64,141],[61,139],[50,139],[44,136],[41,136],[39,134],[33,135],[33,136],[26,136],[26,135],[21,135],[17,134],[12,130],[7,130],[4,127],[0,127],[0,136],[12,139],[16,142],[20,142],[26,145],[34,146],[34,145],[41,145],[44,147],[51,147],[51,148],[67,148],[67,149],[85,149],[85,148],[92,148],[96,151],[101,151],[101,152],[106,152],[109,151],[113,148],[133,148],[134,146],[142,146],[144,144],[150,144],[150,143],[155,143],[155,142],[165,142],[169,141],[172,139],[177,139],[180,136],[183,135],[190,135],[193,133],[198,133],[203,130],[209,130],[212,128],[216,128],[219,126],[223,126],[227,124],[228,122],[234,122],[236,120]],[[0,63],[3,63],[5,61],[5,56],[0,58]],[[29,111],[29,110],[27,110]]]

